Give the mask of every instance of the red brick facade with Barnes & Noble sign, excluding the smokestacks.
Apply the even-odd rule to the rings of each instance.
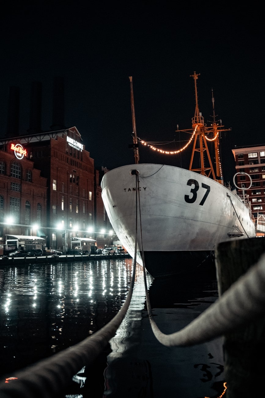
[[[17,160],[10,149],[11,143],[21,144],[27,150],[27,157]],[[1,159],[5,163],[5,170],[0,174],[0,195],[4,203],[0,209],[2,240],[6,233],[37,235],[32,225],[37,223],[39,203],[43,210],[39,231],[46,235],[47,248],[66,252],[74,246],[71,238],[79,238],[83,250],[89,250],[95,244],[101,248],[111,245],[111,236],[108,235],[111,225],[101,199],[100,183],[105,171],[95,170],[94,159],[85,150],[76,127],[1,140]],[[14,159],[20,162],[20,177],[10,174],[10,164]],[[32,181],[27,181],[29,171]],[[20,192],[10,191],[10,186],[15,190],[18,185],[21,185]],[[25,224],[29,226],[12,225],[6,232],[3,222],[10,213],[11,194],[21,202],[19,222],[17,219],[15,224],[23,224],[27,217]],[[25,209],[27,200],[30,218],[28,209]],[[96,240],[96,243],[88,242],[87,238]]]

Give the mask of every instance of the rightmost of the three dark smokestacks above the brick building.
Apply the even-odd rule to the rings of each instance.
[[[64,78],[55,77],[53,80],[53,100],[52,100],[52,125],[50,129],[65,130],[64,125]]]

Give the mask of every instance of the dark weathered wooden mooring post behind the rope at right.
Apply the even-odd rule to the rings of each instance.
[[[265,252],[265,238],[222,242],[215,250],[218,292],[221,296]],[[260,396],[264,389],[265,317],[224,336],[226,398]]]

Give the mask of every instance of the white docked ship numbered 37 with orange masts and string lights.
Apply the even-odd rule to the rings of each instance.
[[[219,135],[226,130],[215,121],[215,113],[210,127],[204,122],[197,100],[198,76],[191,75],[195,115],[190,140],[179,150],[160,151],[174,154],[192,146],[189,169],[139,163],[139,144],[156,148],[136,135],[130,77],[135,164],[110,170],[101,183],[103,203],[118,239],[154,278],[192,273],[206,264],[215,269],[214,252],[220,242],[256,236],[248,200],[223,183]],[[212,101],[214,112],[213,95]],[[215,170],[210,141],[215,146]],[[199,154],[196,164],[195,154]]]

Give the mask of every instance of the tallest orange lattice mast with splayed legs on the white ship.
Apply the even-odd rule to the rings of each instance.
[[[193,79],[194,79],[196,105],[195,105],[195,115],[192,119],[192,128],[195,131],[195,135],[194,135],[194,143],[193,143],[193,148],[192,148],[189,170],[199,172],[203,176],[207,176],[207,177],[209,177],[212,174],[213,179],[215,181],[217,181],[217,179],[215,178],[215,172],[213,170],[213,164],[211,161],[211,157],[210,157],[208,146],[207,146],[207,141],[205,138],[205,133],[207,132],[207,127],[206,127],[206,124],[204,123],[204,119],[201,116],[201,113],[199,112],[197,82],[196,82],[199,75],[200,74],[196,74],[196,72],[194,72],[193,75],[190,75],[190,77],[193,77]],[[197,141],[199,141],[199,145],[197,144]],[[205,166],[205,162],[204,162],[204,152],[205,151],[207,153],[207,157],[208,157],[208,161],[209,161],[209,165],[210,165],[209,167]],[[200,168],[192,168],[195,152],[199,152]]]

